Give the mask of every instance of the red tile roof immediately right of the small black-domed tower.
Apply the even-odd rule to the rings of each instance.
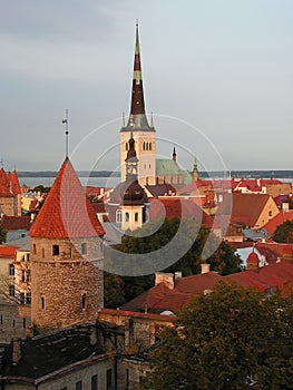
[[[155,218],[195,218],[202,225],[212,227],[214,220],[192,199],[164,197],[150,198],[150,220]]]

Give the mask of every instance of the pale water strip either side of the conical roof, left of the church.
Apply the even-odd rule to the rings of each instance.
[[[120,177],[79,177],[82,186],[94,186],[94,187],[116,187],[120,182]],[[26,184],[27,186],[35,188],[38,185],[43,185],[45,187],[51,187],[55,177],[19,177],[20,185]]]

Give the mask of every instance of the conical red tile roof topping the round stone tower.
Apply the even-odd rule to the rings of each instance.
[[[67,157],[29,235],[45,238],[92,237],[105,234]]]

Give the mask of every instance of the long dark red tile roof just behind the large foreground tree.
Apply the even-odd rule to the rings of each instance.
[[[266,265],[255,271],[244,271],[233,275],[221,276],[215,272],[177,279],[174,289],[159,283],[145,291],[134,300],[125,303],[121,309],[144,312],[147,306],[150,313],[165,310],[177,311],[189,303],[196,294],[213,290],[219,281],[235,283],[240,287],[253,287],[263,292],[277,287],[286,294],[293,290],[293,264],[286,261]]]

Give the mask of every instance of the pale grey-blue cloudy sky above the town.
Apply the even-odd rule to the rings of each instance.
[[[157,156],[192,169],[293,169],[293,1],[0,0],[0,159],[119,169],[139,38]],[[150,120],[150,119],[149,119]]]

